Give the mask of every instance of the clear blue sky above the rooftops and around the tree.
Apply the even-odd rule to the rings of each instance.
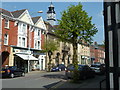
[[[104,19],[103,19],[103,2],[81,2],[83,10],[85,10],[89,16],[92,16],[92,23],[94,23],[98,29],[98,33],[93,37],[94,41],[102,44],[104,41]],[[56,19],[61,19],[61,12],[66,10],[70,5],[77,5],[78,2],[53,2],[56,12]],[[2,8],[8,11],[16,11],[21,9],[28,9],[32,17],[42,16],[46,21],[47,11],[50,2],[2,2]],[[43,13],[37,13],[38,11]],[[57,23],[56,23],[57,24]]]

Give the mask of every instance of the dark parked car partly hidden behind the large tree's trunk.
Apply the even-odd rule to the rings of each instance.
[[[74,66],[70,64],[67,67],[67,70],[65,71],[66,78],[72,78],[73,71],[74,71]],[[88,65],[78,65],[78,71],[80,74],[80,77],[79,77],[80,79],[95,77],[95,71],[92,70]]]

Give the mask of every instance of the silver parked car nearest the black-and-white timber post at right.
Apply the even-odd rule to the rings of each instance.
[[[105,64],[92,64],[91,68],[96,74],[105,74]]]

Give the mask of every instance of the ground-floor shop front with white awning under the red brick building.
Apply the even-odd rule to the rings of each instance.
[[[38,58],[33,56],[33,51],[28,48],[13,47],[13,66],[24,69],[25,72],[37,68]]]

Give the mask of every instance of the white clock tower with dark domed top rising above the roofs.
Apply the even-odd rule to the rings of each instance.
[[[51,2],[50,6],[48,7],[48,11],[47,11],[47,21],[53,26],[55,25],[55,21],[56,21],[56,13],[54,11],[54,6]]]

